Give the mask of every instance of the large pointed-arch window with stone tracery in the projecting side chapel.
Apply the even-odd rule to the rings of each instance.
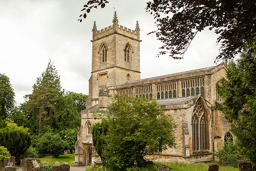
[[[208,122],[200,101],[197,101],[192,116],[193,151],[208,149]]]

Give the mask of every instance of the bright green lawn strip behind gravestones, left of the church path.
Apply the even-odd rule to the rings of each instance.
[[[60,163],[67,162],[69,165],[73,165],[75,161],[75,154],[60,155],[58,158],[39,158],[39,159],[41,160],[41,163],[43,161],[47,161],[51,165],[53,165],[56,161]]]

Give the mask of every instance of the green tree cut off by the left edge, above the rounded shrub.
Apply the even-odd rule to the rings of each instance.
[[[9,78],[0,73],[0,119],[7,119],[15,107],[15,93]]]

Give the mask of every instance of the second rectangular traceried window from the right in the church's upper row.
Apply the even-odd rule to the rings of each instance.
[[[176,82],[158,84],[157,99],[172,99],[177,97]]]

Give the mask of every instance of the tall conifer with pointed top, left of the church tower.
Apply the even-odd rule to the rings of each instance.
[[[41,133],[44,127],[58,129],[59,113],[57,105],[64,94],[60,76],[55,66],[49,61],[46,70],[38,77],[32,94],[26,95],[26,111],[32,132]]]

